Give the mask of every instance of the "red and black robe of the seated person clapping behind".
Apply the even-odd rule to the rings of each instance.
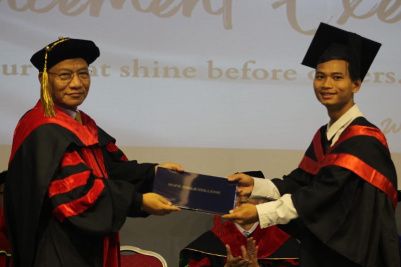
[[[263,267],[298,266],[298,241],[278,227],[261,229],[259,226],[250,235],[259,247],[258,261]],[[241,246],[246,247],[246,237],[233,222],[223,222],[216,216],[214,226],[203,233],[180,252],[180,267],[223,267],[227,251],[231,248],[234,256],[241,256]]]

